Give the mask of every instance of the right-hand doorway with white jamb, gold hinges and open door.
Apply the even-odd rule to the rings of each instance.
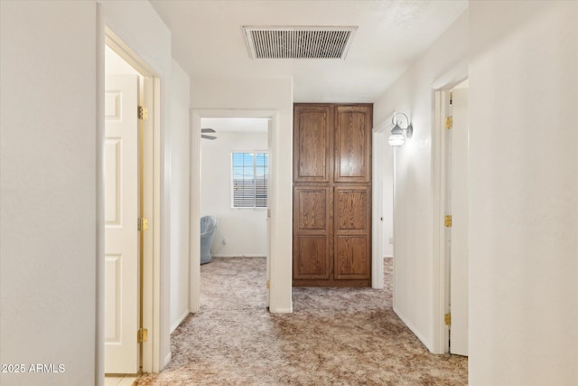
[[[439,351],[468,355],[468,81],[436,91]]]

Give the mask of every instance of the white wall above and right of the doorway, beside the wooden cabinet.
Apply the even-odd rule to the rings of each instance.
[[[269,181],[271,210],[269,309],[271,312],[291,312],[293,161],[290,144],[293,143],[293,82],[290,79],[193,79],[191,108],[276,111],[270,135],[274,152],[269,154],[272,175]],[[193,159],[195,156],[198,155],[192,155]],[[194,167],[195,163],[191,165]],[[194,190],[199,191],[199,186],[191,186],[193,197]],[[191,210],[195,211],[194,208]],[[193,272],[193,277],[199,278],[199,272]],[[198,285],[199,283],[191,283],[191,286]],[[193,287],[193,292],[198,293],[198,287]]]

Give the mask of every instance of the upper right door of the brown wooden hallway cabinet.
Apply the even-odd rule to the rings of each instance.
[[[371,108],[367,106],[336,108],[334,180],[371,182]]]

